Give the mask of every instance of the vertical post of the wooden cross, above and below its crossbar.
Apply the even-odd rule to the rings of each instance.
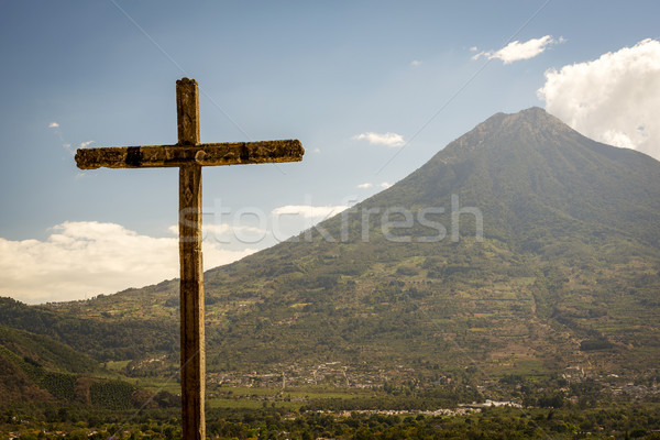
[[[197,81],[176,81],[178,144],[199,143]],[[184,440],[206,438],[204,268],[201,260],[201,166],[179,167],[179,261],[182,314],[182,416]]]

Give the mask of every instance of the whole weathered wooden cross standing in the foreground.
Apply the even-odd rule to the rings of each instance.
[[[199,143],[199,92],[195,79],[176,81],[176,145],[80,148],[81,169],[179,168],[182,315],[182,413],[185,440],[202,440],[205,427],[204,271],[201,262],[201,167],[302,160],[299,141]]]

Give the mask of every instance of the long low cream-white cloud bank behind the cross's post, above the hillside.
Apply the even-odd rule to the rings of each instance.
[[[205,268],[253,249],[204,243]],[[178,240],[141,235],[116,223],[64,222],[45,241],[0,238],[0,295],[25,302],[82,299],[178,276]]]

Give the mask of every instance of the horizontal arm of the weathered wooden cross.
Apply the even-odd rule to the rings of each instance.
[[[299,162],[305,150],[298,140],[228,142],[197,145],[145,145],[79,148],[81,169],[175,167]]]

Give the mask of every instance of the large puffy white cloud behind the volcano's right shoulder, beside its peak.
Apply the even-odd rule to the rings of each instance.
[[[546,109],[596,141],[660,160],[660,42],[546,72]]]

